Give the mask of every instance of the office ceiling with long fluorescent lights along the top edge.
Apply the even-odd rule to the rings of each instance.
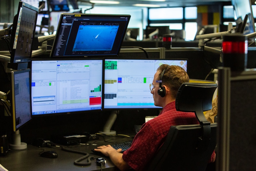
[[[211,5],[231,0],[165,0],[165,1],[146,1],[146,0],[108,0],[119,1],[119,4],[98,4],[97,6],[133,6],[133,4],[158,4],[160,7],[191,7],[197,5]],[[89,4],[89,0],[78,0],[80,4]]]

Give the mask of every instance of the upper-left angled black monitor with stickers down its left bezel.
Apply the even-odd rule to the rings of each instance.
[[[31,60],[32,45],[37,23],[38,8],[20,1],[11,34],[11,59],[7,67],[26,69]]]

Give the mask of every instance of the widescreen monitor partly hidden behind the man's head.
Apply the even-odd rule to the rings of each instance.
[[[149,84],[162,64],[187,71],[186,59],[105,59],[104,109],[161,109]]]

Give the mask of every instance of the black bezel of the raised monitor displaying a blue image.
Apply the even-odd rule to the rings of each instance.
[[[116,36],[115,38],[115,41],[118,41],[116,42],[116,45],[118,44],[119,47],[117,47],[117,50],[115,51],[115,53],[113,54],[105,54],[105,53],[101,53],[101,54],[81,54],[81,55],[78,55],[78,54],[75,54],[75,55],[60,55],[60,56],[56,56],[55,55],[55,51],[54,49],[56,49],[56,46],[57,46],[57,39],[59,37],[59,34],[61,34],[61,21],[63,20],[63,16],[64,15],[80,15],[80,16],[88,16],[89,18],[91,17],[116,17],[116,18],[128,18],[127,19],[127,23],[126,25],[124,26],[124,30],[123,31],[123,34],[122,34],[122,37],[118,37]],[[126,14],[83,14],[83,13],[61,13],[60,15],[60,19],[59,19],[59,23],[58,23],[58,27],[57,27],[57,30],[56,30],[56,35],[55,35],[55,38],[54,38],[54,41],[53,41],[53,46],[52,46],[52,50],[50,52],[50,58],[79,58],[79,57],[117,57],[119,55],[119,52],[121,50],[121,45],[124,41],[124,37],[125,37],[125,34],[126,34],[126,31],[127,31],[127,27],[128,27],[128,24],[129,24],[129,21],[130,21],[130,18],[131,18],[131,15],[126,15]],[[115,44],[114,44],[115,45]],[[113,46],[114,47],[114,46]]]

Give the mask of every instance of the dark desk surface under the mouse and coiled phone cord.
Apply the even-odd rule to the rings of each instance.
[[[104,140],[105,139],[105,140]],[[113,144],[114,142],[123,142],[131,140],[131,138],[120,138],[114,136],[105,136],[104,139],[101,137],[100,140],[88,142],[88,145],[72,145],[64,146],[72,150],[79,150],[87,152],[94,158],[102,157],[92,153],[91,149],[94,149],[100,145]],[[39,153],[44,151],[56,151],[58,157],[55,159],[44,158],[39,156]],[[6,156],[0,156],[0,164],[3,165],[9,171],[64,171],[64,170],[101,170],[100,166],[97,166],[96,159],[91,160],[89,166],[77,166],[74,161],[83,157],[83,154],[71,153],[61,150],[61,147],[44,147],[39,148],[33,145],[28,145],[26,150],[10,150]],[[118,170],[108,157],[103,157],[107,162],[105,166],[102,166],[102,170],[111,171]],[[82,163],[87,162],[86,160],[81,161]]]

